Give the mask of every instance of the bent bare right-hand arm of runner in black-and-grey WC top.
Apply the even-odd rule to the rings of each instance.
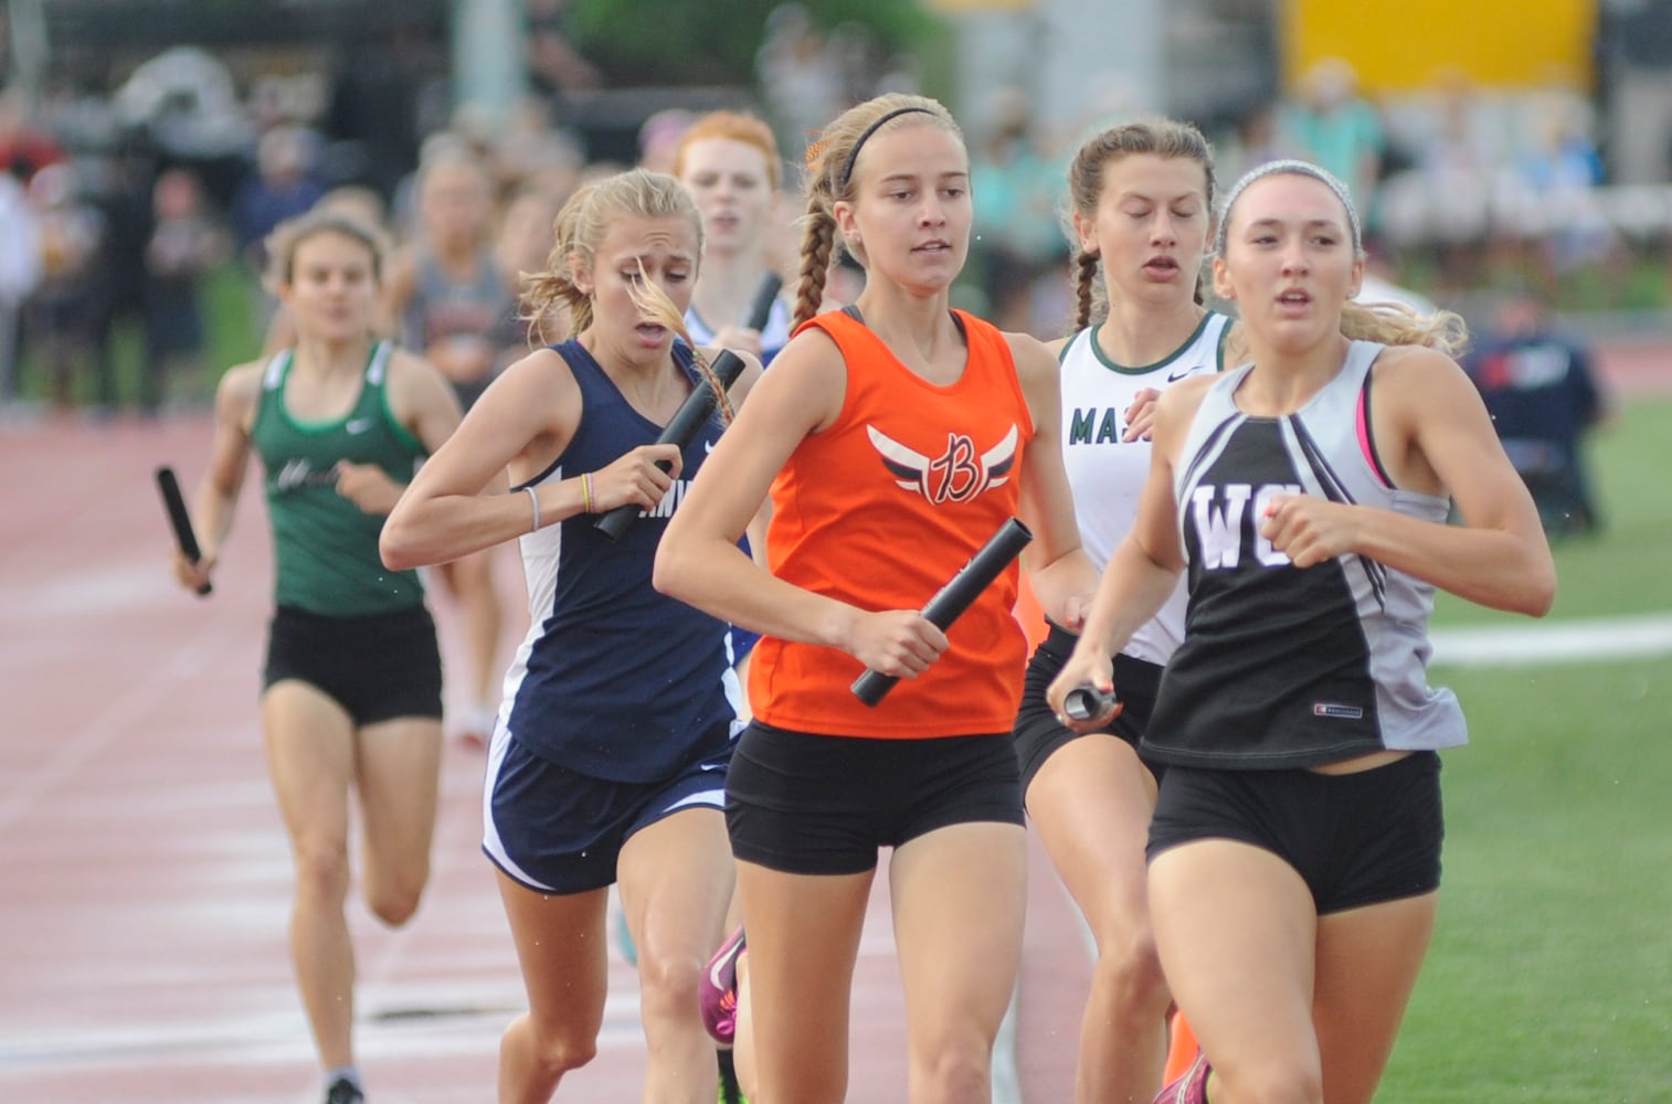
[[[1463,524],[1296,494],[1272,499],[1261,533],[1301,568],[1358,553],[1483,606],[1548,613],[1557,578],[1538,509],[1463,369],[1406,347],[1373,371],[1373,429],[1394,484],[1450,493]]]

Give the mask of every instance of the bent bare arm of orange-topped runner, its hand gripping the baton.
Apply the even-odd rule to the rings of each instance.
[[[916,610],[868,613],[766,571],[737,548],[772,478],[841,411],[846,366],[819,331],[772,361],[662,534],[655,588],[714,616],[782,640],[841,648],[883,675],[915,676],[946,648]]]

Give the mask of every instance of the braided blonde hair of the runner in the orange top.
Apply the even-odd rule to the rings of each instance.
[[[836,234],[836,202],[853,199],[854,167],[859,150],[878,130],[931,122],[963,142],[963,130],[940,102],[926,95],[893,92],[849,107],[824,127],[806,154],[806,214],[801,217],[801,272],[796,282],[796,319],[799,326],[819,312],[824,281],[841,257]],[[856,261],[864,261],[854,254]]]

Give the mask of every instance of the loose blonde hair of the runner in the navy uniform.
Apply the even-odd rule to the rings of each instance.
[[[650,169],[629,169],[600,177],[580,187],[557,212],[545,271],[518,274],[523,286],[518,317],[532,327],[542,327],[567,312],[575,332],[592,326],[592,296],[575,286],[575,269],[595,269],[599,246],[619,219],[681,219],[697,239],[697,257],[702,256],[702,215],[684,184]],[[679,306],[650,279],[639,281],[630,291],[640,311],[691,346],[697,371],[719,399],[721,418],[731,421],[732,408],[726,399],[726,387],[714,376],[707,357],[697,351]]]

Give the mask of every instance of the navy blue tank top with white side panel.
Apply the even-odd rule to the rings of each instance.
[[[597,471],[662,433],[579,341],[553,347],[580,386],[580,424],[525,486]],[[699,379],[689,349],[675,346],[674,361]],[[520,539],[530,628],[505,696],[512,735],[537,755],[594,778],[660,782],[736,735],[741,695],[726,623],[650,586],[667,521],[719,434],[716,416],[686,448],[667,496],[619,541],[599,533],[592,514]]]

